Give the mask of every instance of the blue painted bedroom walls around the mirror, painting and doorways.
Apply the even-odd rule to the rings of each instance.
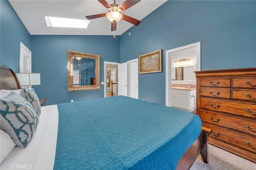
[[[104,97],[100,90],[67,92],[67,50],[126,62],[163,49],[163,72],[139,75],[139,98],[165,104],[165,51],[201,42],[201,69],[256,67],[256,1],[168,1],[122,36],[30,36],[8,1],[0,1],[0,63],[19,71],[19,42],[32,51],[33,86],[46,105]],[[128,36],[128,32],[132,35]]]

